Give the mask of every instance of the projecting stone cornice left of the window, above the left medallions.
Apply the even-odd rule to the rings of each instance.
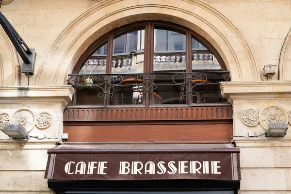
[[[56,86],[3,86],[0,104],[5,103],[62,103],[72,100],[74,89],[70,85]]]

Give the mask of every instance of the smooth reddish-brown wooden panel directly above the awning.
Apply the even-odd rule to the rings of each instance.
[[[64,126],[69,142],[228,141],[232,124],[112,124]]]

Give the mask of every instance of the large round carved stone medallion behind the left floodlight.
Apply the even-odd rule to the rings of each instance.
[[[29,133],[35,126],[35,116],[34,113],[29,109],[20,109],[14,113],[10,119],[10,124],[18,124],[25,127],[26,131]]]

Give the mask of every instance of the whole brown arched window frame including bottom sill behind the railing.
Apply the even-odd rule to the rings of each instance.
[[[129,25],[121,26],[117,29],[114,29],[106,34],[102,35],[100,38],[97,38],[81,55],[78,62],[76,63],[75,67],[73,68],[72,75],[78,74],[81,70],[82,66],[85,62],[94,54],[97,49],[101,48],[103,45],[107,44],[107,55],[106,60],[108,65],[106,65],[105,74],[99,75],[110,75],[112,73],[112,65],[111,62],[113,60],[113,40],[121,35],[127,34],[129,32],[134,32],[137,30],[145,30],[145,43],[144,43],[144,71],[142,74],[152,74],[154,73],[154,33],[155,29],[162,29],[162,30],[169,30],[178,33],[182,33],[186,35],[186,69],[183,73],[197,73],[194,72],[192,69],[192,39],[195,39],[202,45],[206,47],[212,53],[215,58],[217,59],[218,63],[221,66],[221,71],[226,72],[227,68],[222,59],[219,55],[218,51],[207,41],[203,36],[194,32],[191,29],[186,27],[170,23],[164,21],[142,21],[142,22],[135,22]],[[107,41],[107,42],[106,42]],[[200,72],[201,73],[201,72]],[[202,72],[203,73],[203,72]],[[129,74],[130,75],[130,74]],[[146,100],[146,97],[143,97],[143,104],[125,104],[125,105],[112,105],[109,103],[109,98],[104,101],[104,105],[81,105],[83,106],[93,106],[93,107],[111,107],[111,108],[119,108],[119,107],[140,107],[140,108],[147,108],[147,107],[188,107],[188,106],[227,106],[226,103],[203,103],[203,104],[193,104],[190,103],[193,100],[191,96],[189,99],[187,98],[186,104],[153,104],[153,94],[149,94],[149,99]],[[76,102],[76,99],[75,99]],[[79,105],[77,105],[79,106]]]

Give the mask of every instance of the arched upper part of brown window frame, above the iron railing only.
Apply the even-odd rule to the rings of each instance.
[[[203,44],[210,52],[215,56],[218,63],[221,66],[222,71],[227,71],[226,65],[222,59],[222,57],[219,55],[218,51],[210,44],[209,41],[207,41],[203,36],[201,36],[199,33],[194,32],[191,29],[188,29],[186,27],[169,23],[169,22],[163,22],[163,21],[143,21],[143,22],[135,22],[129,25],[125,25],[122,27],[119,27],[117,29],[114,29],[111,32],[108,32],[101,36],[100,38],[97,38],[95,42],[93,42],[81,55],[79,60],[77,61],[75,67],[73,68],[72,74],[78,74],[81,67],[84,65],[84,63],[90,58],[90,56],[100,47],[102,47],[105,44],[101,44],[103,41],[108,39],[107,41],[107,56],[106,60],[108,62],[112,61],[113,58],[113,40],[114,35],[116,37],[116,34],[118,36],[133,32],[136,29],[139,29],[139,27],[144,27],[145,30],[145,49],[144,49],[144,73],[153,73],[153,57],[154,57],[154,31],[155,27],[165,28],[165,30],[175,30],[175,32],[183,32],[186,35],[186,72],[192,72],[192,38]],[[132,29],[132,30],[130,30]],[[101,44],[101,45],[100,45]],[[106,72],[105,74],[111,74],[112,65],[106,66]]]

